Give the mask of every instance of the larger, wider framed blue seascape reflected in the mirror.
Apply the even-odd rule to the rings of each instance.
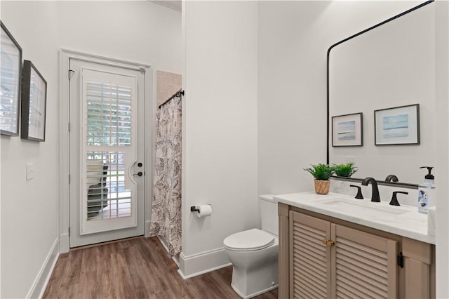
[[[375,145],[419,145],[420,104],[375,110]]]

